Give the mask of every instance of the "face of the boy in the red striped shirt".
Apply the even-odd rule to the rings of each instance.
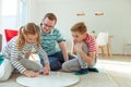
[[[79,32],[72,32],[72,36],[75,42],[81,42],[84,39],[84,34],[80,34]]]

